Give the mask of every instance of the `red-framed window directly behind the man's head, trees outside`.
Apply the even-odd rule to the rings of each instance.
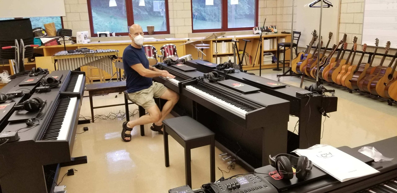
[[[137,23],[147,35],[148,25],[154,34],[168,34],[168,0],[87,0],[91,36],[98,31],[128,35],[129,26]]]

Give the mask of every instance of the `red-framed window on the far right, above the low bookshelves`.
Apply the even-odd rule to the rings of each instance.
[[[258,23],[258,0],[192,0],[193,33],[250,30]]]

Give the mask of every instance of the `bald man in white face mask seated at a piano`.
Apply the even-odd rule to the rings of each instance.
[[[146,58],[145,50],[142,46],[144,39],[142,27],[138,24],[134,24],[129,28],[129,31],[130,33],[128,36],[131,39],[131,45],[127,46],[123,52],[123,65],[127,77],[128,97],[135,102],[135,104],[145,108],[149,114],[141,116],[136,120],[123,123],[121,138],[124,141],[131,141],[131,131],[136,125],[153,123],[150,129],[162,134],[162,121],[179,100],[179,95],[177,93],[168,89],[161,83],[152,81],[152,77],[162,76],[174,78],[175,76],[168,73],[166,70],[159,70],[149,66],[149,61]],[[166,104],[164,104],[161,112],[154,102],[153,97],[168,100]]]

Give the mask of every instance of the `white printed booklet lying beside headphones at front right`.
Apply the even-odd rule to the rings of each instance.
[[[314,145],[308,149],[297,150],[296,153],[306,156],[318,168],[341,182],[379,172],[330,145]]]

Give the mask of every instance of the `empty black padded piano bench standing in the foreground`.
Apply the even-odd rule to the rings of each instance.
[[[168,135],[171,135],[175,141],[185,148],[186,185],[192,187],[190,150],[210,145],[210,178],[211,182],[215,182],[215,133],[188,116],[164,120],[163,128],[166,167],[170,166]]]

